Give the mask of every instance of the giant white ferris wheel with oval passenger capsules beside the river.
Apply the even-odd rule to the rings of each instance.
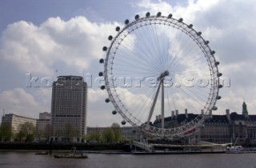
[[[221,98],[214,50],[192,24],[172,14],[137,14],[124,23],[108,37],[110,46],[102,49],[106,58],[99,61],[104,64],[101,89],[109,95],[105,102],[114,105],[112,114],[122,116],[122,125],[129,122],[153,136],[193,134]],[[198,115],[174,126],[168,118],[183,111]]]

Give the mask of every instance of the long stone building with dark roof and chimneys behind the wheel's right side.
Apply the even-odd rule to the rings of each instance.
[[[178,111],[171,117],[165,118],[165,127],[173,128],[181,126],[187,122],[194,120],[198,114],[178,114]],[[161,116],[157,116],[153,125],[161,126]],[[242,103],[242,114],[236,112],[230,113],[226,110],[226,114],[214,115],[210,114],[204,124],[194,134],[194,138],[214,143],[230,143],[245,146],[256,146],[256,115],[248,114],[246,102]]]

